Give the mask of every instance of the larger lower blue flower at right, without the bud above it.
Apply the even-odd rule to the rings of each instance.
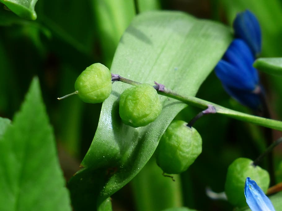
[[[262,90],[258,71],[253,67],[254,60],[245,41],[234,39],[214,70],[229,95],[243,105],[258,109]]]

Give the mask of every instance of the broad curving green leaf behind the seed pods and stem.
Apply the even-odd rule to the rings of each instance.
[[[181,12],[155,11],[136,16],[121,37],[111,72],[132,80],[154,81],[185,95],[195,95],[232,40],[229,28]],[[148,162],[161,135],[187,105],[160,96],[161,115],[145,127],[124,125],[119,95],[128,84],[115,82],[103,103],[84,167],[70,180],[74,207],[99,206],[127,184]],[[87,204],[86,204],[87,203]]]

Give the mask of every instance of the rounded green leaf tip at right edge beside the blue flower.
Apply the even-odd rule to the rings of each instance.
[[[262,72],[282,76],[282,58],[258,58],[253,66]]]

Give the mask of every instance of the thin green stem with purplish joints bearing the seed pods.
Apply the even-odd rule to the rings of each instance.
[[[124,83],[131,84],[133,86],[138,86],[139,84],[141,84],[139,82],[135,82],[130,79],[123,78],[117,74],[112,74],[112,81],[121,81]],[[178,93],[175,93],[174,91],[164,88],[162,84],[156,83],[156,86],[154,86],[154,88],[158,91],[158,94],[164,95],[164,96],[167,96],[173,99],[177,99],[183,103],[186,103],[187,105],[195,106],[195,107],[202,108],[202,109],[206,109],[208,105],[211,105],[216,109],[216,113],[223,114],[223,115],[226,115],[228,117],[231,117],[237,120],[250,122],[253,124],[258,124],[264,127],[282,131],[282,121],[272,120],[272,119],[267,119],[267,118],[263,118],[259,116],[245,114],[242,112],[237,112],[232,109],[224,108],[223,106],[217,105],[215,103],[211,103],[209,101],[206,101],[200,98],[180,95]]]

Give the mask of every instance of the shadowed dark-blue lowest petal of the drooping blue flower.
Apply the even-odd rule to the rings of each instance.
[[[252,93],[249,91],[242,91],[238,89],[234,89],[223,84],[224,90],[242,105],[248,106],[254,110],[259,110],[261,107],[261,97],[257,93]],[[260,87],[260,89],[262,89]]]

